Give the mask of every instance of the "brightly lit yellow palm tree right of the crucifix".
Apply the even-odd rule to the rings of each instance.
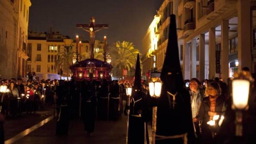
[[[112,65],[116,69],[127,69],[128,71],[133,70],[136,65],[136,56],[141,53],[138,49],[134,48],[132,42],[118,41],[115,43],[117,49],[112,50],[110,54]]]

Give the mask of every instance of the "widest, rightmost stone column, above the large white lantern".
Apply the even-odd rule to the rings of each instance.
[[[252,70],[251,58],[251,11],[250,1],[237,1],[238,15],[238,70],[249,67]]]

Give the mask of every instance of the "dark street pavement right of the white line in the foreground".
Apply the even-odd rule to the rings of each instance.
[[[70,120],[68,136],[55,136],[56,119],[49,121],[15,144],[123,144],[125,143],[126,117],[118,121],[96,121],[91,137],[86,136],[83,121]]]

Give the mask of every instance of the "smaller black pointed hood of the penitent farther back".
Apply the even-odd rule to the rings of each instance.
[[[139,54],[137,55],[133,89],[141,90],[141,63]]]

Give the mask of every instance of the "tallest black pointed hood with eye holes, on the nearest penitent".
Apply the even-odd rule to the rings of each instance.
[[[176,18],[173,14],[170,15],[168,44],[160,78],[166,90],[175,92],[184,86],[179,63]]]

